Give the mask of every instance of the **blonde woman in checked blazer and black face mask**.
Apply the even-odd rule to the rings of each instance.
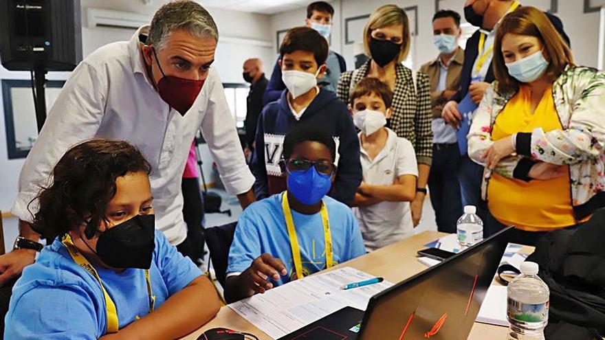
[[[355,84],[373,77],[393,91],[390,128],[398,137],[412,142],[418,161],[415,199],[410,204],[412,221],[418,225],[432,157],[430,85],[425,73],[416,73],[401,64],[410,51],[410,25],[406,12],[397,5],[377,8],[364,27],[364,49],[370,59],[359,69],[340,75],[338,98],[349,102]]]

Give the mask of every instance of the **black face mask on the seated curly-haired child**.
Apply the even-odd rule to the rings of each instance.
[[[149,269],[154,249],[155,216],[137,215],[100,233],[95,253],[109,267]]]

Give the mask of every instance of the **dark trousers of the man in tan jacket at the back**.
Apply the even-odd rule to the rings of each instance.
[[[435,212],[437,230],[445,233],[456,232],[456,221],[463,213],[457,174],[460,161],[457,143],[433,144],[428,176],[430,203]]]

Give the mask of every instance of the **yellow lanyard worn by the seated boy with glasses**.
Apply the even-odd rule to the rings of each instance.
[[[288,227],[288,236],[290,238],[290,246],[292,247],[292,259],[294,260],[294,269],[296,269],[296,278],[303,278],[303,262],[300,260],[300,247],[298,246],[298,237],[296,236],[296,228],[292,219],[292,211],[288,204],[287,192],[282,195],[281,203],[286,225]],[[322,224],[324,225],[324,238],[326,241],[326,268],[333,267],[334,261],[332,258],[332,235],[330,234],[330,221],[328,219],[328,209],[325,203],[322,202],[321,207]]]

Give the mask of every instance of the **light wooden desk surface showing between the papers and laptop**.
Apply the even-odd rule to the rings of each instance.
[[[423,246],[426,245],[426,243],[445,235],[446,234],[437,231],[425,231],[422,234],[402,240],[394,245],[384,247],[366,254],[365,256],[361,256],[360,258],[339,264],[329,270],[340,267],[353,267],[372,275],[382,276],[384,277],[384,280],[393,283],[401,282],[426,269],[425,265],[418,262],[416,252],[423,249]],[[199,306],[199,308],[203,308],[203,306]],[[203,326],[182,339],[196,340],[203,331],[215,327],[250,332],[261,340],[272,340],[271,337],[254,327],[227,306],[221,308],[217,317],[214,317],[206,326]],[[508,328],[506,327],[475,323],[468,339],[506,339],[507,330]]]

